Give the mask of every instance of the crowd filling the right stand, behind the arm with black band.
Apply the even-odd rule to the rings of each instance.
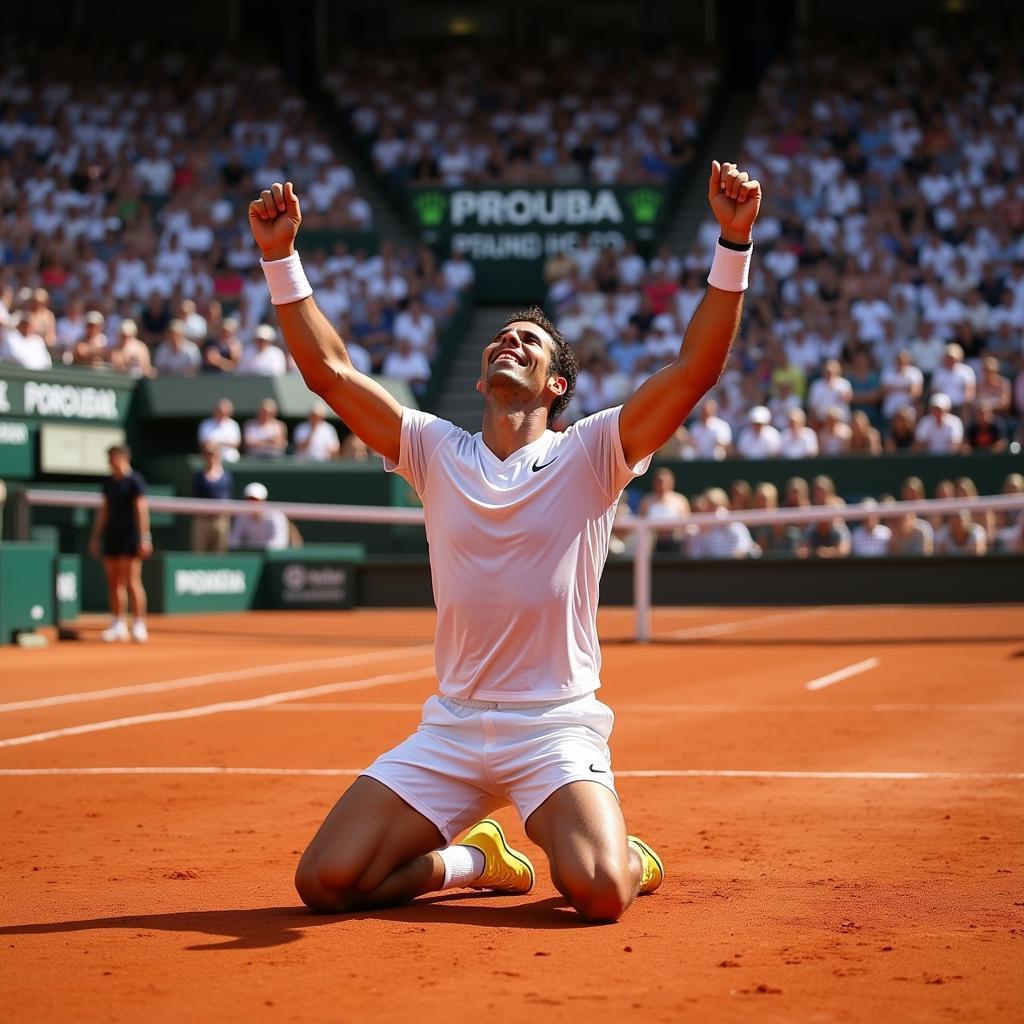
[[[882,50],[880,51],[880,45]],[[999,452],[1024,419],[1024,75],[995,34],[799,44],[740,163],[765,190],[729,368],[682,458]],[[577,345],[570,415],[679,350],[717,241],[548,266]]]

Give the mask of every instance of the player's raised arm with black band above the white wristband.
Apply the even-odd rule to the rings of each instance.
[[[718,383],[739,328],[761,185],[734,164],[715,160],[708,202],[721,228],[710,287],[686,328],[675,361],[644,381],[623,406],[618,434],[631,466],[665,444]]]

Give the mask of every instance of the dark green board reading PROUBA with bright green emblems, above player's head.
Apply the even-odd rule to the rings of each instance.
[[[584,234],[596,249],[653,241],[668,191],[652,185],[419,188],[410,193],[424,242],[462,252],[483,302],[540,301],[544,264]]]

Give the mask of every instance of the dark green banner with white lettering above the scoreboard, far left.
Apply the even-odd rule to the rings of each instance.
[[[98,379],[97,379],[98,378]],[[0,371],[0,416],[123,423],[135,382],[86,371]]]

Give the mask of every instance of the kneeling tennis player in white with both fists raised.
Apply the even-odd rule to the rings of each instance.
[[[662,861],[627,835],[615,796],[612,714],[595,696],[597,598],[623,488],[718,381],[739,324],[761,188],[716,161],[708,198],[721,239],[678,358],[622,407],[556,433],[575,383],[572,349],[540,309],[515,313],[483,349],[483,429],[472,435],[403,409],[352,367],[295,252],[302,216],[291,182],[250,204],[270,300],[306,383],[423,501],[437,604],[440,693],[303,854],[296,887],[314,910],[459,887],[528,892],[529,860],[483,817],[508,803],[588,921],[615,921],[660,885]]]

